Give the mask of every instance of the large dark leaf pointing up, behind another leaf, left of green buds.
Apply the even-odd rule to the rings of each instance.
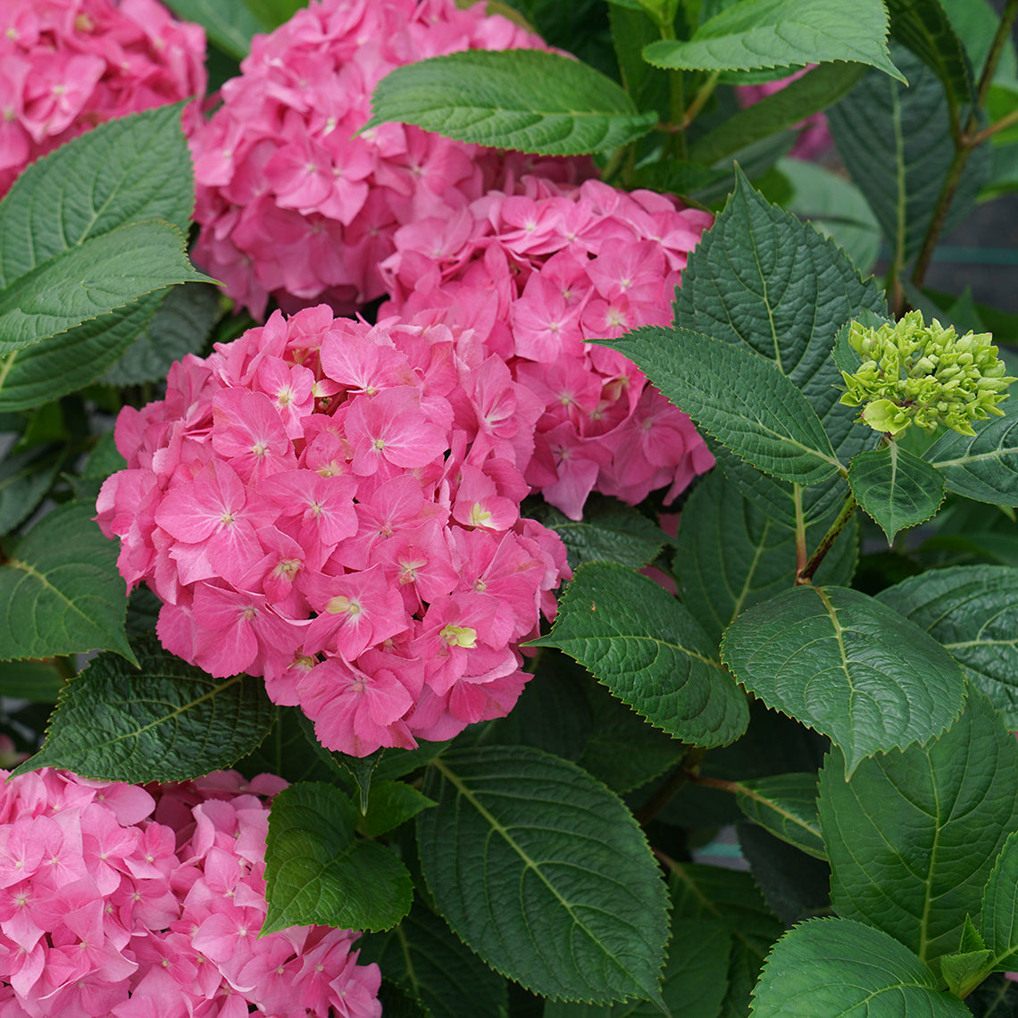
[[[855,411],[838,402],[841,376],[831,358],[838,329],[863,310],[884,314],[883,293],[863,281],[844,251],[771,205],[739,174],[735,192],[693,249],[676,292],[676,325],[748,347],[772,359],[819,415],[838,458],[876,443]],[[792,488],[723,454],[725,472],[768,515],[795,525]],[[807,519],[840,505],[832,479],[802,493]]]

